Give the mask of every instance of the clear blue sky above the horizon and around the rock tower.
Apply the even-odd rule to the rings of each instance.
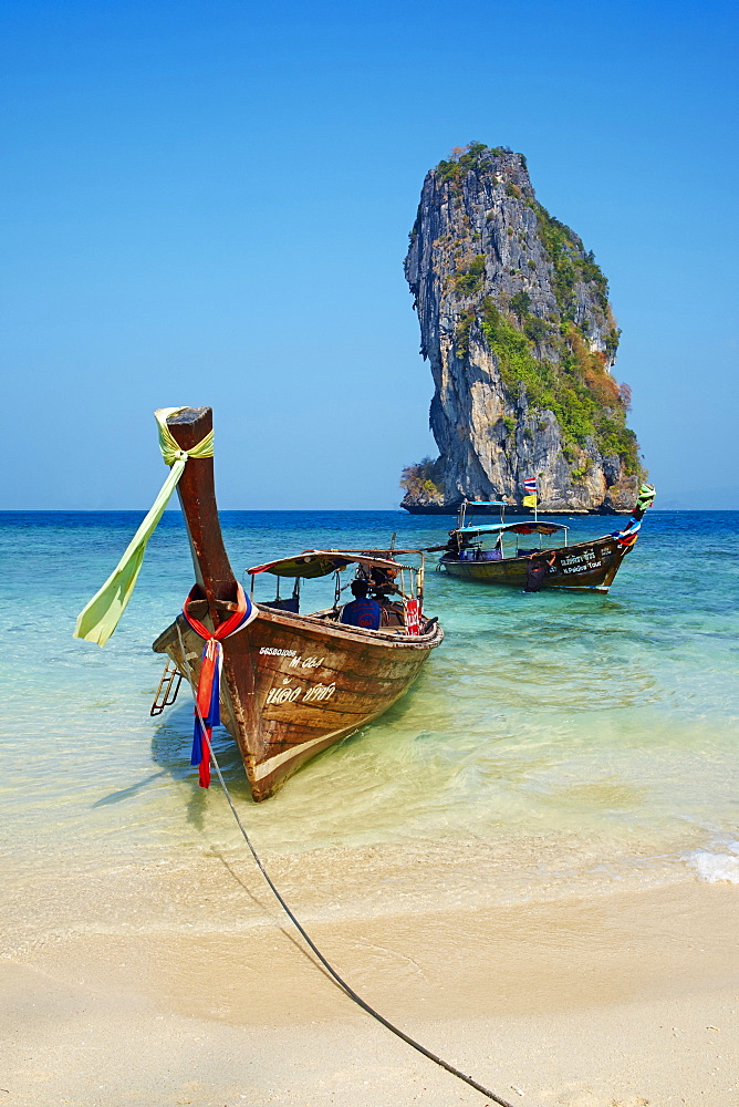
[[[657,506],[739,508],[738,21],[7,0],[0,508],[146,508],[150,413],[188,403],[215,408],[223,507],[396,506],[435,454],[407,235],[471,139],[524,153],[608,277]]]

